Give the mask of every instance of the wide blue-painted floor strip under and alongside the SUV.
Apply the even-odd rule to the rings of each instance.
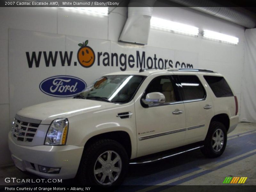
[[[191,151],[186,154],[171,157],[169,159],[165,159],[165,160],[158,161],[151,164],[130,165],[129,173],[123,185],[138,185],[138,188],[133,188],[133,190],[147,188],[148,186],[146,185],[157,185],[164,181],[178,178],[190,172],[200,170],[201,169],[200,166],[203,166],[204,164],[209,164],[211,162],[215,162],[215,163],[223,162],[225,160],[228,160],[233,157],[255,150],[256,149],[256,132],[250,131],[250,132],[244,132],[244,133],[250,133],[250,134],[244,135],[244,136],[234,135],[234,136],[228,137],[232,139],[228,140],[224,153],[222,154],[222,156],[218,158],[214,158],[214,159],[206,158],[201,154],[200,150],[196,150],[196,151]],[[205,170],[198,174],[172,182],[168,185],[179,185],[183,182],[192,180],[196,177],[215,171],[224,166],[230,165],[232,163],[235,163],[248,156],[252,156],[255,154],[256,152],[248,154],[247,156],[243,156],[233,161],[229,161],[228,163],[221,164],[220,166],[215,167],[212,170]],[[166,187],[167,186],[162,186],[160,188],[157,188],[156,191],[164,190]],[[151,191],[154,191],[154,190],[151,190]]]

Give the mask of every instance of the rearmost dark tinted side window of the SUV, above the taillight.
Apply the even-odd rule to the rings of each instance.
[[[206,82],[210,85],[216,97],[231,97],[234,96],[227,81],[220,76],[204,76]]]

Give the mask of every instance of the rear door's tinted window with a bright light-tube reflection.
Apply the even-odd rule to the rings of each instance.
[[[184,100],[204,99],[205,91],[197,76],[179,75],[182,85]]]

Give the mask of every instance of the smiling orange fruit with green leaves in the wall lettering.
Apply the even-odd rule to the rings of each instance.
[[[80,49],[77,52],[77,60],[83,67],[91,67],[95,61],[95,53],[91,47],[87,46],[88,40],[83,42],[83,44],[78,44]]]

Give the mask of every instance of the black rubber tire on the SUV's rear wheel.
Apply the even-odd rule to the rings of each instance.
[[[219,135],[223,134],[223,137],[219,137],[216,134],[219,134]],[[216,141],[214,141],[213,138],[215,138]],[[222,138],[223,138],[223,142],[221,142]],[[204,140],[204,147],[201,148],[202,153],[204,154],[204,156],[210,157],[210,158],[219,157],[224,152],[226,148],[226,144],[227,144],[226,127],[220,122],[212,121],[209,125],[209,129]]]

